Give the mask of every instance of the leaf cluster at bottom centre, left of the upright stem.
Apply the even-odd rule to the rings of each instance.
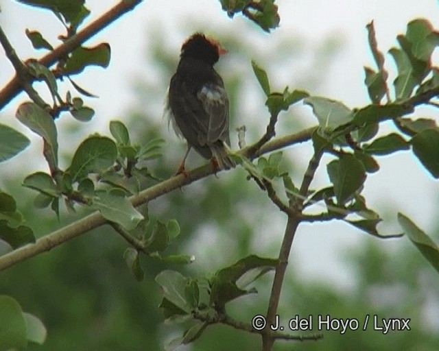
[[[174,339],[166,350],[198,339],[210,324],[222,322],[226,304],[243,295],[257,293],[248,286],[274,269],[277,260],[255,255],[241,258],[233,265],[219,269],[209,278],[193,279],[177,271],[162,271],[156,282],[163,290],[160,307],[167,323],[189,324],[182,337]]]

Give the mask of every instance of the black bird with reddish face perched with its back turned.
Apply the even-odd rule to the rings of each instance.
[[[177,174],[186,173],[191,148],[210,159],[215,170],[235,167],[230,147],[229,103],[222,77],[213,69],[227,53],[217,40],[196,32],[183,43],[180,62],[171,77],[165,114],[178,136],[187,141],[187,151]]]

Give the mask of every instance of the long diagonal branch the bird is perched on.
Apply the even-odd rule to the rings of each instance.
[[[312,128],[311,128],[312,129]],[[308,137],[306,137],[306,134]],[[302,141],[306,141],[311,137],[310,130],[305,130],[299,132],[297,134],[292,134],[289,136],[284,136],[279,140],[273,140],[270,143],[267,143],[259,150],[259,155],[264,154],[265,152],[271,152],[274,147],[285,147],[288,145],[294,145],[296,143],[301,143]],[[251,147],[251,145],[250,145]],[[237,152],[243,156],[248,155],[249,147],[246,147]],[[202,178],[205,178],[209,175],[218,173],[217,169],[214,169],[212,165],[209,163],[208,165],[204,165],[202,167],[198,167],[197,169],[193,169],[187,173],[187,177],[183,174],[176,175],[168,180],[165,180],[161,183],[158,183],[154,186],[151,186],[148,189],[141,191],[138,195],[134,195],[130,197],[130,201],[133,206],[137,207],[141,204],[145,204],[146,202],[150,202],[161,195],[165,195],[170,193],[175,189],[180,189],[182,186],[186,186],[191,184],[192,182],[196,182]],[[8,254],[0,256],[0,271],[15,265],[21,261],[25,261],[27,258],[36,256],[43,252],[47,252],[52,248],[65,243],[75,237],[79,237],[80,235],[88,232],[89,230],[98,228],[108,223],[99,212],[92,213],[82,219],[78,219],[73,223],[70,223],[68,226],[60,228],[51,234],[47,234],[44,237],[41,237],[34,244],[25,245],[20,247],[17,250],[14,250]]]

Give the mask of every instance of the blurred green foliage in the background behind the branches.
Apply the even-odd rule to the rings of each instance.
[[[202,25],[191,25],[185,32],[194,32],[195,27],[199,29]],[[254,27],[249,26],[248,31],[251,30]],[[251,143],[261,135],[269,116],[263,106],[262,92],[259,92],[261,99],[254,98],[258,96],[254,90],[259,89],[256,79],[248,75],[250,40],[231,33],[215,33],[215,36],[229,51],[217,65],[217,71],[224,78],[230,97],[231,135],[236,148],[234,128],[246,124],[247,141]],[[148,165],[158,178],[165,179],[176,170],[185,146],[173,132],[168,132],[166,121],[159,117],[163,92],[176,68],[178,53],[167,50],[167,36],[162,29],[156,29],[155,38],[145,49],[147,64],[155,70],[152,79],[133,83],[137,102],[121,119],[128,126],[132,140],[138,143],[157,136],[169,141],[165,155]],[[267,50],[252,53],[255,55],[252,58],[269,73],[272,67],[283,67],[284,75],[291,75],[290,86],[312,91],[325,79],[325,72],[342,45],[340,40],[329,37],[322,38],[319,47],[305,52],[307,48],[302,38],[280,38]],[[299,56],[307,56],[309,60],[306,69],[294,76],[296,71],[288,67],[294,66]],[[248,101],[249,96],[254,100]],[[109,121],[119,117],[95,118]],[[66,124],[66,130],[60,134],[74,135],[87,129],[84,123]],[[305,124],[294,108],[281,116],[277,130],[283,131],[279,134],[287,134],[300,130]],[[294,157],[285,157],[284,166],[298,177],[300,167],[296,164],[300,162],[293,159],[296,161]],[[195,167],[202,162],[205,161],[192,152],[187,166]],[[1,186],[4,191],[22,194],[20,210],[29,219],[37,237],[73,221],[71,215],[62,213],[58,223],[48,211],[36,210],[32,191],[13,189],[11,180],[21,174],[20,169],[12,170],[3,178]],[[23,311],[39,317],[48,329],[45,344],[31,346],[29,350],[163,350],[165,343],[181,335],[183,329],[163,324],[158,309],[161,291],[154,282],[156,274],[163,269],[176,269],[187,276],[201,277],[248,254],[276,257],[286,221],[265,193],[254,182],[246,180],[246,172],[240,168],[154,200],[148,210],[150,217],[161,221],[178,220],[182,234],[168,253],[193,254],[194,263],[185,267],[169,266],[143,257],[145,280],[139,283],[122,257],[126,242],[105,226],[1,273],[0,293],[11,295]],[[389,252],[381,243],[383,241],[363,236],[361,250],[340,252],[346,267],[355,272],[355,279],[350,282],[353,288],[349,290],[298,278],[294,265],[289,265],[278,314],[284,323],[296,314],[313,315],[314,320],[318,315],[327,314],[357,318],[360,329],[366,315],[378,315],[380,319],[411,318],[412,330],[383,335],[369,325],[366,332],[347,331],[345,335],[337,331],[324,332],[323,341],[278,341],[274,350],[437,350],[439,336],[434,326],[439,323],[438,316],[429,314],[430,306],[439,304],[434,269],[414,247]],[[318,259],[309,257],[310,261]],[[271,280],[272,274],[258,280],[259,294],[235,300],[227,306],[228,313],[245,322],[250,322],[256,314],[265,314]],[[312,332],[318,330],[314,328]],[[198,341],[181,349],[257,350],[260,345],[257,335],[228,326],[211,326]]]

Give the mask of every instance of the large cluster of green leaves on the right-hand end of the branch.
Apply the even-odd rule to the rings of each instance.
[[[390,53],[394,57],[398,76],[394,80],[394,101],[381,105],[381,99],[388,93],[388,73],[384,69],[384,56],[377,49],[373,23],[368,26],[369,43],[377,62],[378,71],[365,68],[366,86],[372,104],[360,109],[351,109],[326,97],[309,96],[301,90],[283,93],[272,93],[268,76],[261,67],[252,62],[253,70],[265,95],[266,105],[271,116],[281,110],[303,100],[311,106],[318,119],[319,128],[312,134],[315,156],[324,153],[335,156],[327,165],[330,186],[309,191],[304,195],[303,206],[322,203],[327,212],[304,219],[330,220],[341,219],[360,230],[375,237],[399,237],[402,234],[383,236],[377,230],[381,221],[378,213],[366,206],[366,199],[361,195],[368,173],[379,170],[376,156],[393,154],[394,152],[412,149],[414,155],[434,178],[439,178],[439,128],[434,119],[403,118],[413,112],[416,104],[427,103],[431,97],[439,94],[438,68],[431,65],[431,54],[439,45],[439,34],[425,19],[414,20],[407,25],[405,35],[398,36],[401,49],[393,48]],[[435,93],[436,92],[436,93]],[[425,94],[427,99],[425,99]],[[377,136],[379,123],[385,120],[394,121],[396,131],[385,136]],[[279,167],[281,154],[275,153],[268,159],[259,158],[257,165],[244,162],[244,166],[253,178],[261,182],[274,182],[276,178],[283,182],[288,199],[299,197],[298,189],[289,178],[287,172]],[[285,206],[286,207],[286,206]],[[410,239],[437,269],[439,251],[436,244],[421,230],[409,230],[406,221],[401,226]],[[410,219],[407,219],[410,221]],[[410,221],[410,223],[412,223]],[[413,224],[413,223],[412,223]],[[413,224],[414,225],[414,224]],[[422,233],[422,234],[420,234]],[[420,238],[423,239],[420,239]],[[431,258],[434,256],[435,258]]]

